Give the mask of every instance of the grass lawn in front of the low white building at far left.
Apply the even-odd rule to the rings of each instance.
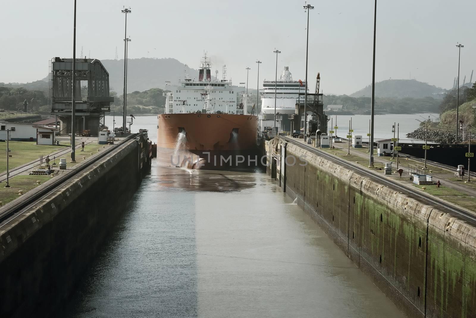
[[[9,158],[9,168],[15,168],[21,166],[34,159],[39,159],[40,155],[48,155],[51,152],[55,152],[61,149],[65,149],[68,145],[60,146],[46,146],[37,145],[34,141],[9,141],[9,147],[11,149]],[[7,170],[7,160],[5,158],[7,151],[7,143],[0,142],[0,171]],[[52,159],[52,158],[51,158]]]

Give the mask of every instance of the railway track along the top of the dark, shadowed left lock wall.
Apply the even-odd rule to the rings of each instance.
[[[40,200],[48,197],[50,194],[54,193],[57,189],[60,189],[66,183],[68,183],[72,178],[77,176],[80,172],[88,169],[90,166],[94,165],[99,160],[106,157],[109,153],[118,149],[122,144],[126,143],[127,141],[136,138],[139,134],[132,134],[127,138],[120,141],[118,144],[114,144],[109,146],[105,151],[100,152],[93,158],[84,161],[78,165],[76,165],[73,169],[69,170],[68,173],[64,173],[58,177],[54,177],[54,181],[51,183],[45,183],[44,185],[31,190],[29,193],[24,195],[24,199],[20,202],[13,204],[3,211],[0,211],[0,228],[4,225],[8,224],[11,220],[15,219],[19,215],[21,215],[26,210],[30,209]]]

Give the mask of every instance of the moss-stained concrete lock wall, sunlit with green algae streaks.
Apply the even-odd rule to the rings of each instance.
[[[279,139],[267,150],[285,152]],[[286,152],[308,164],[278,163],[281,186],[408,317],[476,317],[474,225],[297,145]]]

